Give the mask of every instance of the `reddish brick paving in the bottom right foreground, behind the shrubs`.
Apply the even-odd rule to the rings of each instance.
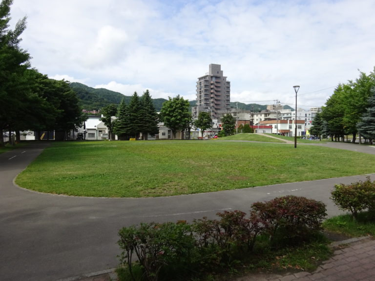
[[[375,239],[352,238],[331,244],[334,256],[314,272],[285,274],[250,274],[234,281],[374,281]],[[114,270],[91,273],[83,277],[59,281],[116,281]]]

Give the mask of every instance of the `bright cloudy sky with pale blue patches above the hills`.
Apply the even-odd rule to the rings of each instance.
[[[231,101],[324,105],[375,66],[374,0],[14,0],[21,47],[54,79],[195,100],[221,64]]]

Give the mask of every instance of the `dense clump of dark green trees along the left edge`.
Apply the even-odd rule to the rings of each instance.
[[[0,3],[0,145],[3,131],[55,130],[57,139],[84,120],[76,93],[64,80],[48,79],[30,65],[20,47],[26,17],[9,29],[12,0]]]

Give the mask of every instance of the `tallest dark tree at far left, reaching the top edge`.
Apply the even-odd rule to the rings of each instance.
[[[26,17],[19,20],[14,30],[9,28],[10,6],[13,0],[0,2],[0,145],[4,145],[3,130],[11,130],[14,120],[27,102],[24,72],[30,66],[30,55],[20,48],[21,34],[26,28]]]

